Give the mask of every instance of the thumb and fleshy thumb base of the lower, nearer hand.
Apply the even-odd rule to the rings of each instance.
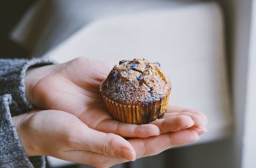
[[[14,116],[13,123],[28,156],[51,155],[68,160],[72,153],[87,151],[127,160],[135,158],[134,148],[123,137],[90,129],[65,111],[32,111]]]

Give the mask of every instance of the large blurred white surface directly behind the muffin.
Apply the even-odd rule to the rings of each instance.
[[[173,82],[170,104],[198,109],[209,132],[198,143],[229,134],[223,18],[214,3],[154,10],[95,20],[46,55],[59,62],[76,57],[161,62]]]

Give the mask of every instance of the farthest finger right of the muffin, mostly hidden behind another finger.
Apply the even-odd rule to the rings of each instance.
[[[195,123],[193,127],[205,127],[207,125],[207,122],[205,122],[204,118],[200,115],[195,115],[194,113],[189,113],[189,112],[178,112],[178,113],[166,113],[164,115],[164,118],[170,118],[173,116],[189,116],[192,118],[193,122]]]

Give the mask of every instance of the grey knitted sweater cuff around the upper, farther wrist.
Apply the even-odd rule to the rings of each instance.
[[[53,60],[42,59],[5,59],[0,60],[0,95],[11,94],[13,106],[10,106],[12,116],[26,113],[33,109],[33,105],[26,98],[25,77],[31,66],[45,66],[54,64]]]

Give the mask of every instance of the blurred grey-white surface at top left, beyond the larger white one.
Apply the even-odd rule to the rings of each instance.
[[[193,0],[189,0],[193,3]],[[172,9],[188,4],[170,0],[38,0],[13,30],[12,39],[41,56],[78,29],[104,17]]]

